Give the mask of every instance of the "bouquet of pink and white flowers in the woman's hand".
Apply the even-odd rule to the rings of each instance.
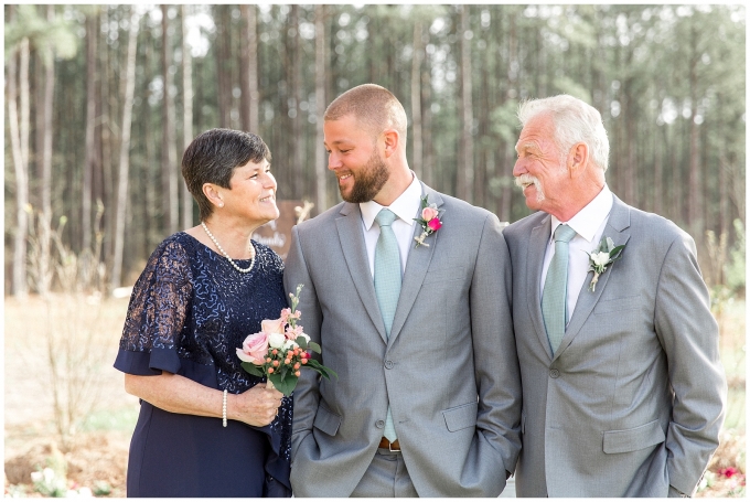
[[[267,387],[276,387],[288,396],[297,386],[302,366],[310,367],[322,376],[331,378],[336,373],[312,359],[310,352],[320,354],[320,345],[310,341],[297,321],[302,316],[297,310],[302,285],[296,293],[289,293],[291,308],[281,310],[279,319],[266,319],[260,323],[260,332],[250,334],[237,349],[237,357],[243,369],[255,376],[266,376]]]

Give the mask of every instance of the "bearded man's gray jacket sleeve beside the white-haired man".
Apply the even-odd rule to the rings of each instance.
[[[471,284],[471,328],[479,391],[479,451],[502,458],[496,476],[515,470],[521,451],[521,374],[511,314],[511,256],[494,214],[489,215]],[[464,476],[467,473],[464,472]]]

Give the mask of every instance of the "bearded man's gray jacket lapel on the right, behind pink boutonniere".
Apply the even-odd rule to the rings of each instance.
[[[442,197],[438,192],[427,186],[425,183],[422,185],[422,196],[427,195],[427,200],[430,203],[435,203],[438,207],[442,205]],[[420,210],[421,211],[421,206]],[[418,214],[415,215],[418,216]],[[417,237],[421,233],[421,225],[415,222],[414,225],[414,236]],[[438,237],[440,232],[436,232],[430,237],[427,238],[426,243],[430,246],[419,246],[414,247],[414,244],[409,246],[409,256],[406,259],[406,269],[404,270],[404,280],[401,281],[401,292],[398,297],[398,307],[396,308],[396,314],[394,316],[394,323],[390,328],[390,340],[388,344],[394,343],[394,340],[400,333],[406,318],[409,316],[409,311],[414,306],[417,295],[421,289],[421,285],[425,281],[425,276],[427,275],[427,268],[432,259],[432,254],[438,245]],[[373,288],[374,291],[375,288]]]

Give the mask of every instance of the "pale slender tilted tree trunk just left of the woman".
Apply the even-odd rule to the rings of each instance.
[[[113,257],[113,273],[109,277],[109,286],[115,289],[120,286],[122,275],[122,249],[125,247],[125,215],[128,205],[128,173],[130,169],[130,125],[132,117],[132,102],[136,89],[136,50],[138,49],[138,23],[139,17],[136,6],[131,7],[130,31],[128,34],[127,68],[125,72],[125,99],[122,104],[122,127],[120,141],[119,175],[117,183],[117,203],[115,222],[115,243]]]

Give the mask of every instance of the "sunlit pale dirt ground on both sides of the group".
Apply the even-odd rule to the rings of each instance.
[[[61,299],[52,308],[33,297],[24,302],[4,301],[6,496],[43,496],[34,490],[31,476],[44,467],[62,470],[67,489],[85,487],[98,496],[126,495],[128,447],[139,405],[137,398],[125,393],[122,375],[113,363],[128,300],[100,303],[89,300],[82,307]],[[732,327],[732,331],[739,333],[733,353],[742,355],[735,363],[742,371],[730,378],[730,387],[739,388],[740,407],[744,408],[744,303],[736,317],[741,318],[741,327]],[[97,393],[93,399],[93,418],[79,424],[65,445],[55,432],[44,337],[51,331],[74,337],[65,334],[64,328],[68,324],[93,330],[94,337],[86,341],[84,352],[88,355],[86,364],[94,372],[94,384],[89,381],[85,385],[96,387]],[[92,359],[92,354],[96,357]],[[725,431],[721,447],[706,474],[706,487],[696,496],[744,495],[744,410],[740,413],[741,430]]]

